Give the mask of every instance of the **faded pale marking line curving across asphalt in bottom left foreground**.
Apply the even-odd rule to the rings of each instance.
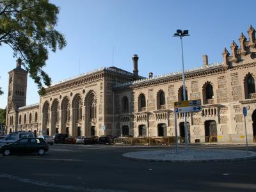
[[[6,178],[6,179],[18,180],[20,182],[26,182],[29,184],[35,184],[36,186],[44,186],[48,188],[71,189],[71,190],[86,191],[86,192],[124,192],[124,191],[112,190],[112,189],[92,189],[92,188],[83,188],[83,187],[77,187],[77,186],[58,185],[50,182],[42,182],[40,180],[26,179],[18,176],[8,175],[1,172],[0,172],[0,177]]]

